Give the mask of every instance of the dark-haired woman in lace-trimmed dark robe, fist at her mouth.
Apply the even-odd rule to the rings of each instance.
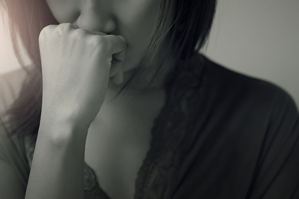
[[[292,98],[196,53],[216,0],[1,2],[33,62],[3,114],[1,198],[299,197]]]

